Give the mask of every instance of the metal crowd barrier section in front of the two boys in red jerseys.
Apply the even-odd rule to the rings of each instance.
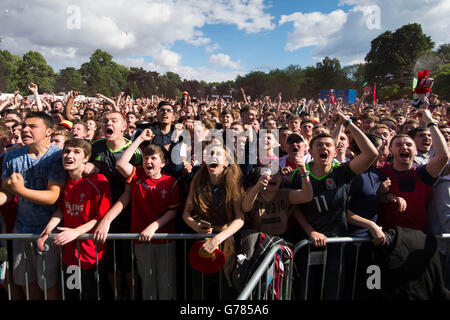
[[[53,239],[53,237],[55,236],[56,234],[50,234],[49,235],[49,239]],[[184,290],[183,290],[183,297],[182,298],[184,298],[184,300],[187,300],[187,299],[189,299],[190,297],[188,297],[188,284],[187,284],[187,279],[188,279],[188,269],[190,269],[190,266],[189,266],[189,261],[188,261],[188,257],[187,257],[187,254],[188,254],[188,251],[187,250],[189,250],[189,248],[187,248],[187,240],[203,240],[203,239],[205,239],[205,238],[208,238],[208,237],[213,237],[214,236],[214,234],[211,234],[211,235],[202,235],[202,234],[189,234],[189,233],[179,233],[179,234],[168,234],[168,233],[156,233],[154,236],[153,236],[153,240],[175,240],[175,241],[184,241],[184,257],[183,257],[183,259],[184,259],[184,270],[183,270],[183,278],[184,278]],[[113,241],[113,256],[114,256],[114,299],[115,300],[117,300],[117,298],[118,298],[118,293],[117,293],[117,277],[116,277],[116,274],[117,274],[117,265],[116,265],[116,241],[118,241],[118,240],[128,240],[128,241],[130,241],[130,245],[131,245],[131,261],[130,261],[130,263],[131,263],[131,278],[132,278],[132,292],[131,292],[131,300],[135,300],[136,299],[136,296],[135,296],[135,292],[136,292],[136,282],[135,282],[135,279],[136,279],[136,276],[135,276],[135,261],[134,261],[134,246],[133,246],[133,244],[134,244],[134,241],[133,240],[137,240],[138,239],[138,237],[139,237],[139,234],[129,234],[129,233],[127,233],[127,234],[119,234],[119,233],[116,233],[116,234],[108,234],[108,236],[107,236],[107,240],[112,240]],[[9,233],[9,234],[0,234],[0,241],[2,241],[2,240],[23,240],[24,242],[25,241],[30,241],[30,240],[36,240],[36,239],[38,239],[39,238],[39,235],[38,234],[12,234],[12,233]],[[74,241],[77,241],[77,246],[78,246],[78,249],[79,249],[79,243],[80,243],[80,240],[86,240],[86,239],[92,239],[93,238],[93,235],[92,234],[84,234],[84,235],[82,235],[82,236],[80,236],[79,238],[77,238],[76,240],[74,240]],[[5,248],[6,248],[6,241],[4,241],[5,242]],[[98,252],[97,252],[98,253]],[[5,277],[5,281],[4,281],[4,283],[3,283],[3,287],[4,288],[6,288],[6,290],[7,290],[7,292],[8,292],[8,299],[9,300],[12,300],[12,296],[11,296],[11,281],[10,281],[10,271],[12,271],[12,270],[10,270],[10,266],[9,266],[9,262],[8,262],[8,258],[7,258],[7,252],[3,252],[3,256],[5,256],[4,257],[4,259],[6,260],[6,272],[5,272],[5,275],[6,275],[6,277]],[[0,257],[0,258],[2,258],[2,257]],[[178,258],[178,257],[177,257]],[[25,259],[26,259],[26,257],[25,257]],[[105,259],[105,258],[104,258]],[[1,264],[1,262],[2,261],[0,261],[0,264]],[[65,283],[64,283],[64,272],[63,272],[63,268],[62,268],[62,266],[63,266],[63,263],[62,263],[62,247],[59,247],[59,271],[60,271],[60,286],[61,286],[61,298],[62,298],[62,300],[66,300],[66,297],[65,297]],[[177,267],[180,265],[180,260],[177,260]],[[1,265],[0,265],[1,266]],[[188,266],[189,266],[189,268],[188,268]],[[43,270],[44,270],[44,274],[45,274],[45,267],[46,267],[46,265],[45,265],[45,255],[44,255],[44,259],[43,259],[43,265],[42,265],[42,268],[43,268]],[[80,262],[80,257],[78,257],[78,267],[81,269],[81,262]],[[99,268],[99,261],[98,261],[98,255],[97,255],[97,257],[96,257],[96,274],[95,274],[95,277],[96,277],[96,285],[97,285],[97,300],[100,300],[100,292],[99,292],[99,285],[100,285],[100,278],[99,278],[99,273],[98,273],[98,269]],[[223,272],[223,271],[221,271],[221,272]],[[178,273],[178,271],[177,271],[177,273]],[[81,283],[81,272],[79,272],[78,273],[79,275],[80,275],[80,277],[79,277],[79,280],[80,280],[80,283]],[[178,279],[177,279],[178,280]],[[203,283],[203,274],[202,274],[202,283]],[[25,288],[26,288],[26,299],[27,300],[29,300],[29,288],[28,288],[28,285],[29,285],[29,283],[28,283],[28,274],[27,274],[27,272],[25,272]],[[109,283],[108,284],[106,284],[106,285],[109,285]],[[218,288],[218,290],[220,290],[221,288]],[[203,286],[202,286],[202,290],[203,290]],[[44,276],[44,299],[45,300],[47,300],[47,279],[45,279],[45,276]],[[80,295],[80,300],[81,300],[81,298],[82,298],[82,291],[83,291],[83,288],[82,287],[80,287],[80,290],[79,290],[79,295]],[[180,297],[178,297],[177,296],[177,299],[179,299]],[[203,292],[202,292],[202,299],[203,298],[205,298],[205,295],[203,294]]]

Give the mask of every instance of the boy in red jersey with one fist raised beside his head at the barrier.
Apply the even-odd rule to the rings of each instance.
[[[156,231],[175,232],[173,218],[179,206],[177,180],[161,173],[165,159],[160,146],[150,144],[144,149],[142,167],[136,168],[129,163],[139,145],[153,138],[153,132],[145,129],[117,161],[117,169],[127,177],[128,185],[100,222],[94,239],[105,241],[109,225],[131,198],[131,233],[139,233],[135,255],[142,281],[142,298],[169,300],[176,298],[175,243],[152,240],[152,237]]]

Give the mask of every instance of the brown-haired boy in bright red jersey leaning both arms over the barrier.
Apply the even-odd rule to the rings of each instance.
[[[48,235],[61,220],[64,221],[64,227],[57,228],[61,232],[54,237],[53,244],[63,246],[64,275],[70,276],[71,273],[67,273],[69,266],[81,267],[79,271],[83,300],[100,298],[97,296],[95,271],[97,262],[102,261],[105,246],[99,244],[96,247],[92,240],[73,240],[92,230],[112,204],[109,182],[104,175],[97,173],[89,178],[82,176],[90,156],[91,145],[86,140],[70,139],[65,142],[62,163],[68,177],[64,193],[37,241],[38,248],[43,251]],[[99,265],[98,271],[100,270]],[[78,290],[69,290],[66,285],[64,288],[69,299],[79,296]]]

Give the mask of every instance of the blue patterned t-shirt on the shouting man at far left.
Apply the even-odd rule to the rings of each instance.
[[[13,173],[20,173],[25,187],[33,190],[47,190],[48,181],[65,182],[66,172],[62,166],[62,149],[50,145],[47,153],[34,159],[28,153],[28,146],[9,151],[2,166],[2,179]],[[15,228],[23,233],[41,233],[50,220],[56,205],[40,205],[17,197],[17,218]]]

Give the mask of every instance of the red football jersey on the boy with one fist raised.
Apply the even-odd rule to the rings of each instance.
[[[127,179],[131,186],[131,233],[141,233],[167,211],[177,209],[180,195],[177,180],[163,174],[159,179],[147,177],[142,167],[134,167]],[[175,221],[170,220],[158,233],[175,233]],[[165,243],[153,240],[152,243]]]

